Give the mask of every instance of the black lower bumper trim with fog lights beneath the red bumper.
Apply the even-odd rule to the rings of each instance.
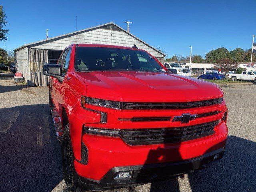
[[[225,141],[226,142],[226,141]],[[218,158],[214,157],[218,154]],[[89,190],[103,190],[124,188],[155,182],[158,180],[166,180],[175,176],[179,176],[194,170],[203,169],[220,162],[224,155],[224,148],[219,148],[212,152],[178,162],[164,164],[144,164],[136,166],[118,166],[110,169],[101,180],[92,180],[80,177],[86,188]],[[114,180],[115,176],[120,172],[133,171],[130,180]]]

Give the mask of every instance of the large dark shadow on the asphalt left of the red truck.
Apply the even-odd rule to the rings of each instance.
[[[1,191],[51,191],[62,180],[62,164],[48,105],[5,108],[0,114]]]

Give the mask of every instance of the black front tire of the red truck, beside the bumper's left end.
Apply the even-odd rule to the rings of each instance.
[[[61,143],[61,155],[64,181],[68,189],[72,192],[86,191],[85,186],[82,184],[80,177],[74,168],[74,155],[70,139],[69,124],[64,128]]]

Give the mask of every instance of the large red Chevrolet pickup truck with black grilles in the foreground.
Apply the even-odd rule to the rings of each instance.
[[[224,155],[223,91],[172,74],[135,45],[72,44],[43,74],[71,191],[165,180]]]

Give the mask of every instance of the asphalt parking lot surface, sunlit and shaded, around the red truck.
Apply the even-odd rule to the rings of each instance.
[[[109,192],[256,191],[256,86],[222,87],[229,136],[222,162],[164,182]],[[48,87],[0,79],[0,191],[66,192]]]

